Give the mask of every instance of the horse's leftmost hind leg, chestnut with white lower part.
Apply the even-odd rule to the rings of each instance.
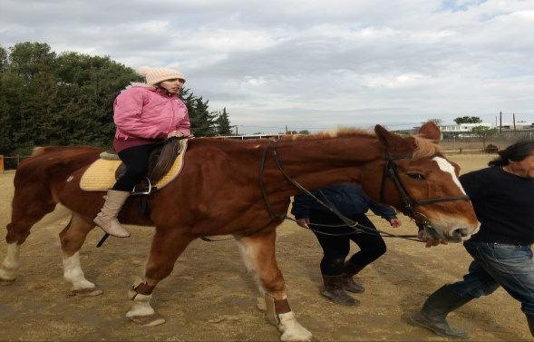
[[[52,212],[56,202],[50,190],[42,184],[31,184],[15,189],[11,223],[7,225],[7,254],[0,265],[0,283],[15,281],[20,268],[20,248],[30,230],[44,215]]]

